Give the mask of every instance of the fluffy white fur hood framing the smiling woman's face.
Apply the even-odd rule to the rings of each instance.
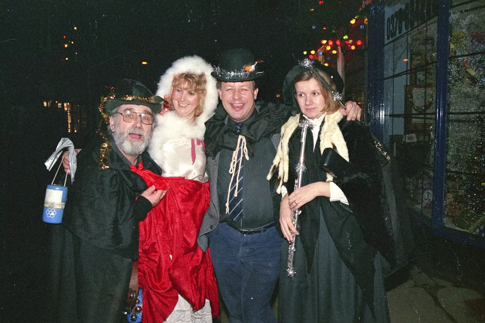
[[[167,69],[158,82],[157,96],[165,97],[172,93],[172,81],[174,76],[180,73],[205,74],[207,80],[207,94],[204,103],[204,111],[196,118],[196,124],[203,126],[212,114],[214,114],[217,103],[219,102],[219,93],[217,92],[216,79],[210,75],[214,69],[199,56],[185,56],[175,61]]]

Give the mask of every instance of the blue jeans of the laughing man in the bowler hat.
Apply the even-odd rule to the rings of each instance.
[[[275,226],[244,235],[220,223],[210,233],[210,257],[230,323],[276,323],[270,301],[282,242]]]

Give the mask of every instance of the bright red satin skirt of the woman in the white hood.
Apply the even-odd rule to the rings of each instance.
[[[194,310],[210,301],[212,317],[219,317],[219,292],[210,249],[197,245],[202,218],[209,207],[209,183],[183,177],[162,177],[143,169],[131,170],[148,186],[170,189],[139,223],[138,279],[143,289],[143,321],[163,322],[173,311],[178,293]],[[170,256],[172,255],[172,259]]]

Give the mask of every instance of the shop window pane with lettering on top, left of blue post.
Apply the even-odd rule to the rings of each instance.
[[[413,6],[419,10],[410,12]],[[388,21],[392,15],[404,21],[394,32],[388,30],[384,47],[384,143],[400,166],[407,207],[429,219],[436,107],[437,7],[433,6],[436,1],[416,0],[386,7]]]

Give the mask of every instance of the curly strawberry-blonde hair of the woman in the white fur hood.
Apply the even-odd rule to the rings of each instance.
[[[194,92],[199,98],[199,104],[195,108],[195,117],[198,117],[204,112],[204,103],[207,94],[206,85],[207,80],[205,74],[180,73],[174,76],[172,91],[175,88],[181,88]],[[168,109],[171,111],[175,109],[172,98],[170,98]]]

